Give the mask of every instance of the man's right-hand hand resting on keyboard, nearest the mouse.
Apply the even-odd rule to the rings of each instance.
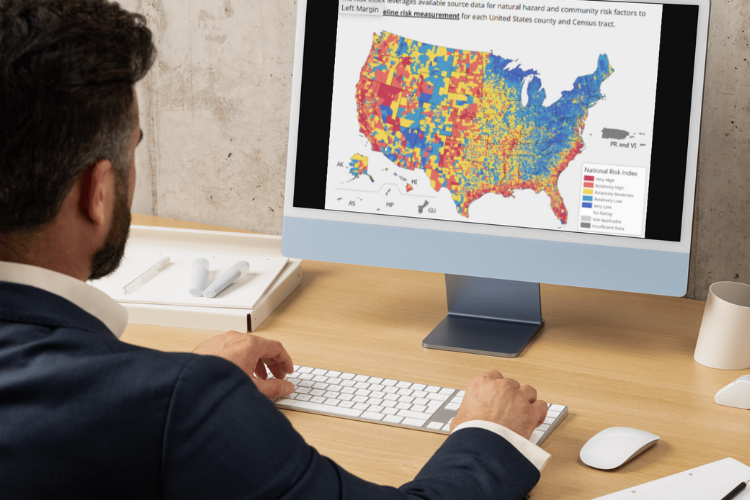
[[[536,398],[536,389],[491,371],[471,381],[451,431],[464,422],[486,420],[529,439],[546,416],[547,403]]]

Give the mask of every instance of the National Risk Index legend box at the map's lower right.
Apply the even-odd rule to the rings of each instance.
[[[647,171],[584,164],[578,228],[591,233],[644,236]]]

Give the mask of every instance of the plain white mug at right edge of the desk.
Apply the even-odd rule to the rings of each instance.
[[[721,281],[708,289],[695,360],[711,368],[750,368],[750,285]]]

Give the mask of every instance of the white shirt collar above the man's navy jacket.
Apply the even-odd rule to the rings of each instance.
[[[128,324],[128,311],[109,295],[72,276],[42,267],[0,261],[0,281],[28,285],[77,305],[109,328],[118,339]]]

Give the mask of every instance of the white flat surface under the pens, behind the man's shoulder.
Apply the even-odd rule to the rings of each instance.
[[[170,258],[169,265],[133,292],[123,293],[123,286],[164,256]],[[216,297],[212,299],[193,297],[188,293],[189,270],[196,257],[203,257],[209,262],[209,284],[237,261],[247,261],[250,268],[246,274]],[[241,254],[194,255],[176,251],[159,253],[128,248],[116,272],[104,279],[89,283],[122,303],[253,309],[288,261],[286,257],[258,257]]]

